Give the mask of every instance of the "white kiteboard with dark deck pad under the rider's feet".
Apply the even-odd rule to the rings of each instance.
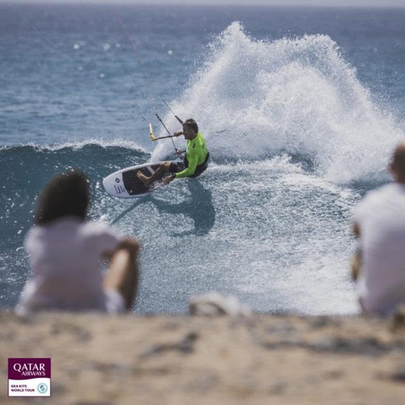
[[[153,182],[149,187],[145,187],[136,174],[140,171],[142,174],[149,177],[162,163],[163,161],[157,161],[118,170],[108,175],[103,180],[105,191],[118,198],[136,198],[149,195],[163,184],[163,179]]]

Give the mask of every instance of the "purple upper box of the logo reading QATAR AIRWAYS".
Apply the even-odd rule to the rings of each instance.
[[[51,378],[50,358],[9,358],[9,380]]]

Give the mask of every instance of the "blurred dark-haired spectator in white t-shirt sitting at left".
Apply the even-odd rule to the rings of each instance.
[[[131,308],[138,285],[139,244],[106,225],[86,222],[87,177],[76,170],[56,175],[39,200],[25,238],[31,263],[17,311]],[[103,278],[100,260],[110,259]]]

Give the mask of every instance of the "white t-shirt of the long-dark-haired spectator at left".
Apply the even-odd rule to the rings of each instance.
[[[17,309],[119,311],[120,294],[103,291],[100,260],[121,240],[108,226],[77,217],[33,226],[25,238],[32,274]]]

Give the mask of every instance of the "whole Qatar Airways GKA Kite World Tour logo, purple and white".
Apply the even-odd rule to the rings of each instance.
[[[51,396],[51,359],[9,358],[9,396]]]

